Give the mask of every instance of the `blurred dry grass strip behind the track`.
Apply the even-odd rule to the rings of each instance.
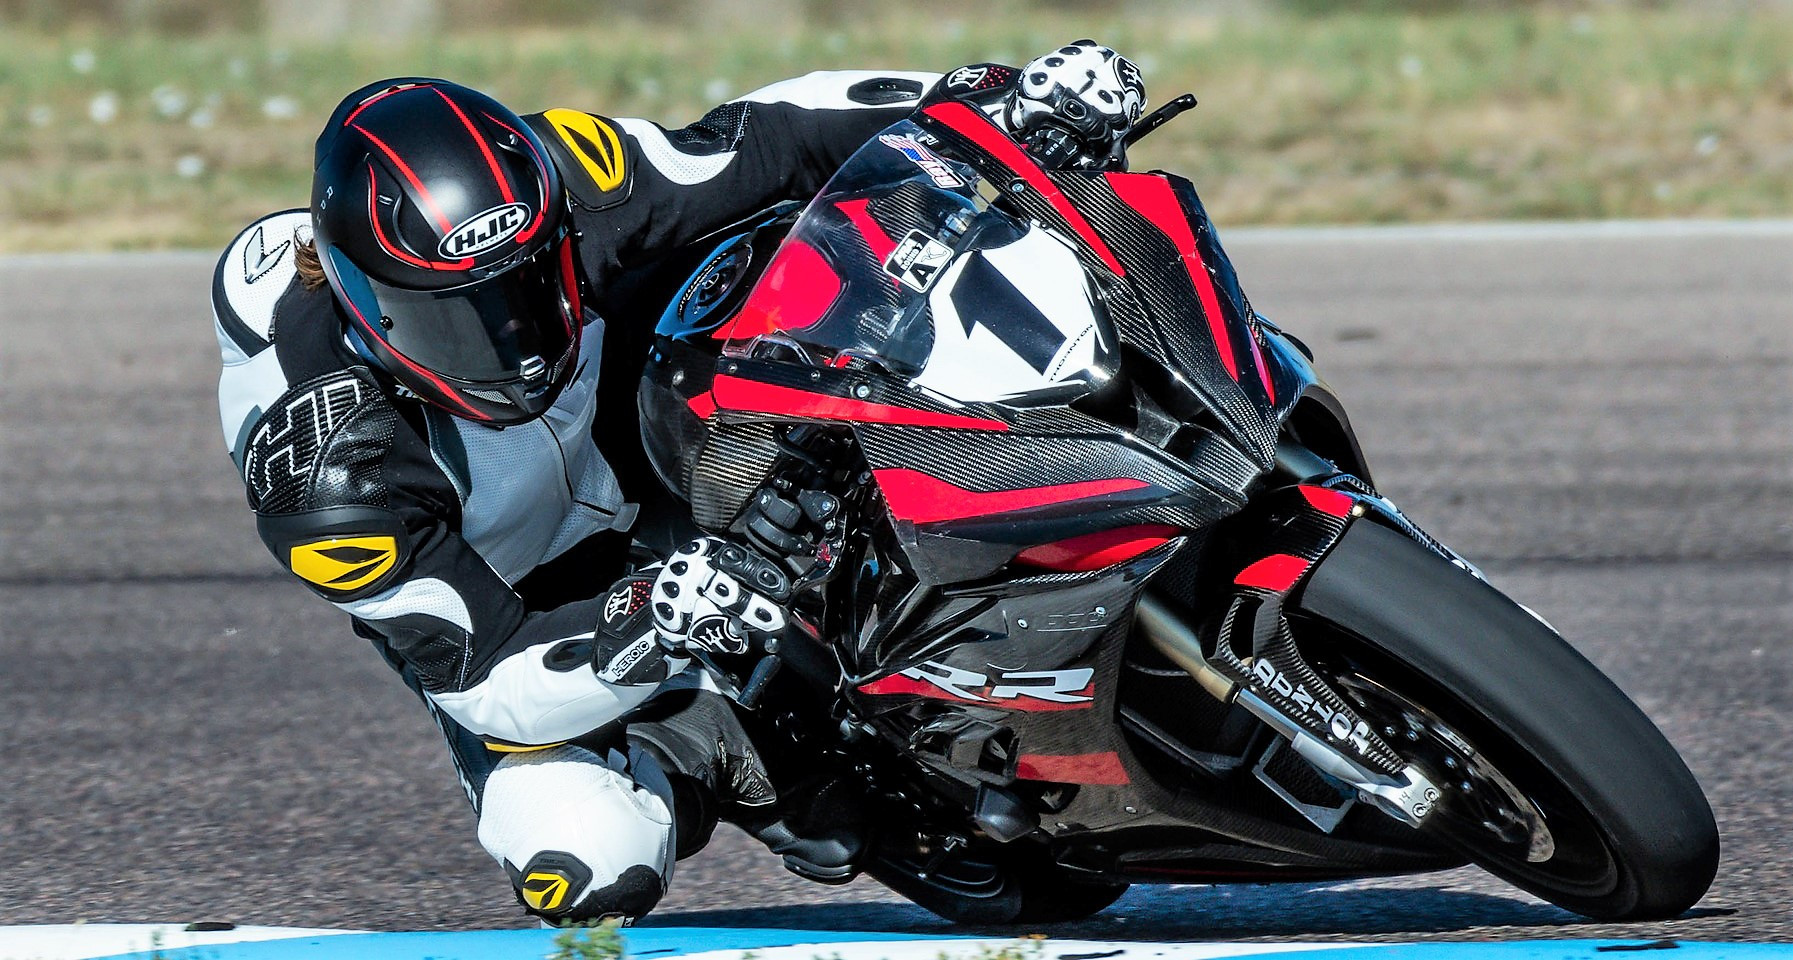
[[[1079,36],[1201,99],[1135,165],[1223,226],[1793,215],[1793,0],[0,0],[0,251],[222,244],[385,75],[678,126]]]

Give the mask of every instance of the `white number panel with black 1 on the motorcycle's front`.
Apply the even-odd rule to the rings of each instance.
[[[1097,386],[1112,345],[1083,264],[1038,224],[961,255],[927,296],[934,346],[914,386],[948,400],[1058,400]]]

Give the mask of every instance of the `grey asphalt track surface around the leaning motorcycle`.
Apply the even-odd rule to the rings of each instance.
[[[1241,231],[1232,251],[1320,353],[1382,490],[1684,752],[1723,865],[1653,924],[1456,870],[1137,888],[1054,933],[1793,938],[1793,224]],[[0,924],[527,926],[423,709],[253,533],[208,271],[0,260]],[[651,922],[945,929],[732,831]]]

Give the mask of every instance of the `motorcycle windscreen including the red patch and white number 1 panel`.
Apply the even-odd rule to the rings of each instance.
[[[775,348],[1029,404],[1104,380],[1110,330],[1070,242],[992,206],[974,167],[904,120],[828,181],[717,337],[732,355]]]

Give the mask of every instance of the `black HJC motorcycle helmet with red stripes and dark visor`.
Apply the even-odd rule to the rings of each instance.
[[[350,343],[420,398],[524,423],[572,379],[583,271],[565,188],[491,97],[421,77],[350,93],[317,136],[312,228]]]

